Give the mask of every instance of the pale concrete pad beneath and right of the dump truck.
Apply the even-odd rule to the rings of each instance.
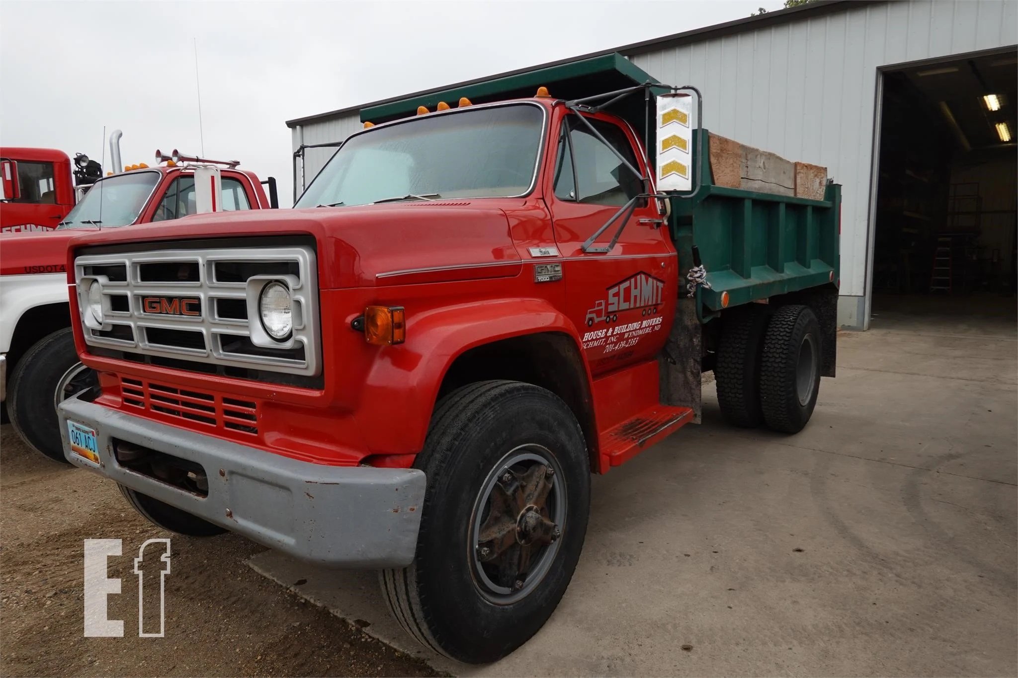
[[[251,565],[457,675],[1016,675],[1014,333],[874,325],[801,433],[725,426],[709,384],[702,425],[595,477],[565,598],[496,664],[417,646],[374,573]]]

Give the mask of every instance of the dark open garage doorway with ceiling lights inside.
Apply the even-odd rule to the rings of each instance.
[[[1014,323],[1018,51],[883,71],[871,326]]]

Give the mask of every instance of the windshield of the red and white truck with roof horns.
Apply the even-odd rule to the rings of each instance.
[[[57,228],[133,224],[159,178],[159,172],[129,172],[100,179]]]

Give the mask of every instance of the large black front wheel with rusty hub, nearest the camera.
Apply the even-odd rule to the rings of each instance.
[[[590,502],[579,424],[544,388],[469,384],[438,404],[414,467],[428,477],[416,554],[381,572],[383,595],[422,644],[494,662],[544,625],[579,559]]]

